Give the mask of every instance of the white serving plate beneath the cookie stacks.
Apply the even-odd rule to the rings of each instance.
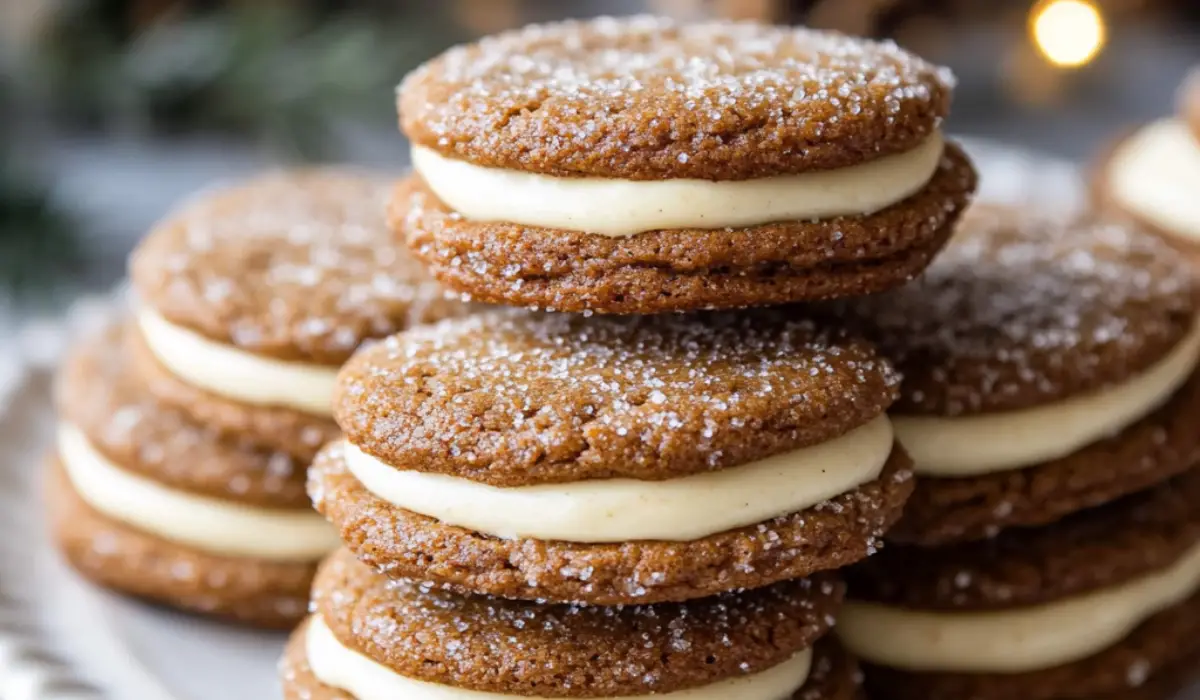
[[[1073,209],[1069,164],[970,143],[982,197]],[[25,328],[0,353],[0,698],[5,700],[270,700],[284,635],[232,628],[121,598],[76,578],[48,544],[40,495],[50,443],[50,370],[113,300]],[[16,352],[13,352],[16,347]],[[16,367],[16,370],[13,370]],[[1200,700],[1200,688],[1188,695]],[[1182,699],[1188,700],[1188,699]]]

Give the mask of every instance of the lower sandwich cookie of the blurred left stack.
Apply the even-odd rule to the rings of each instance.
[[[170,606],[262,627],[306,610],[337,546],[286,453],[233,442],[152,397],[114,325],[72,353],[49,463],[59,548],[84,576]]]

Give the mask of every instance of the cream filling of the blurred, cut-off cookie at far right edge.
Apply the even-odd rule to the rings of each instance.
[[[1187,124],[1166,119],[1141,128],[1112,154],[1106,177],[1121,207],[1200,243],[1200,143]]]

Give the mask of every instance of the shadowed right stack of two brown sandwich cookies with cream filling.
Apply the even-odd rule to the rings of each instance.
[[[970,214],[857,301],[917,486],[838,633],[881,700],[1168,700],[1200,671],[1200,325],[1120,225]]]

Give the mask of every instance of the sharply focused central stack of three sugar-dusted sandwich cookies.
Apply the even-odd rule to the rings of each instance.
[[[308,491],[344,549],[284,695],[858,698],[834,569],[913,489],[899,376],[811,310],[728,309],[918,274],[974,187],[950,91],[889,43],[644,17],[409,76],[397,237],[455,291],[556,312],[342,369]]]

